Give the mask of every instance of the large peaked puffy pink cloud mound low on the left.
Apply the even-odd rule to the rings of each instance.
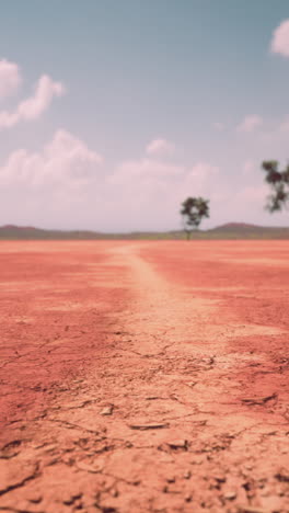
[[[30,186],[86,183],[95,176],[102,157],[86,145],[59,129],[41,152],[19,149],[0,167],[0,183]]]

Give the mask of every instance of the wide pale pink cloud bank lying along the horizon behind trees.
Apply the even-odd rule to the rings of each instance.
[[[276,148],[269,149],[273,156],[279,155]],[[263,151],[262,146],[262,156]],[[211,218],[204,221],[204,228],[264,218],[268,191],[262,173],[251,173],[261,157],[248,149],[243,148],[242,156],[222,168],[215,160],[189,164],[146,155],[118,161],[113,169],[101,166],[102,160],[63,129],[36,151],[12,152],[0,163],[2,223],[103,231],[170,229],[182,226],[180,207],[187,196],[210,201]],[[243,168],[251,173],[250,180],[244,175],[239,180]],[[233,169],[236,174],[230,178]]]

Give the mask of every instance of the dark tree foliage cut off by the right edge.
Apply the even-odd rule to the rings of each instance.
[[[279,171],[277,160],[266,160],[262,163],[266,172],[265,181],[270,185],[271,194],[267,197],[266,208],[270,213],[286,208],[289,202],[289,164]]]

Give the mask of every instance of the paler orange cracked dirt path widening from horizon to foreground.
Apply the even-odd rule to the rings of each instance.
[[[106,355],[2,449],[0,511],[288,511],[286,408],[279,390],[247,396],[247,369],[271,362],[231,349],[282,330],[228,321],[222,301],[162,277],[144,246],[106,250],[129,300],[106,312]]]

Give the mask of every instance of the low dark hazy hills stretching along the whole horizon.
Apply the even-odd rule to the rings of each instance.
[[[105,239],[183,239],[183,231],[139,231],[102,233],[89,230],[46,230],[32,226],[0,227],[0,240],[105,240]],[[289,239],[289,227],[264,227],[245,223],[228,223],[209,230],[193,232],[193,239]]]

